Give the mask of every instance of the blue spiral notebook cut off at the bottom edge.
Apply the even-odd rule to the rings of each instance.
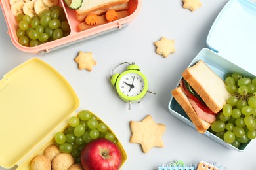
[[[183,161],[173,161],[170,163],[164,163],[158,167],[158,170],[196,170],[196,164],[185,164]]]

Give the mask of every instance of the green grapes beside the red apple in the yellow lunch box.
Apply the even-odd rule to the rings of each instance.
[[[61,152],[70,153],[79,162],[81,150],[94,139],[106,138],[115,144],[118,143],[116,136],[108,126],[87,110],[78,113],[68,120],[69,126],[64,132],[58,132],[54,136],[55,144]]]

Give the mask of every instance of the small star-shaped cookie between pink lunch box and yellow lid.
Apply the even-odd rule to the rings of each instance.
[[[74,59],[78,63],[78,68],[87,69],[87,71],[92,71],[93,66],[96,65],[95,59],[93,59],[93,53],[91,52],[79,52],[78,56]]]

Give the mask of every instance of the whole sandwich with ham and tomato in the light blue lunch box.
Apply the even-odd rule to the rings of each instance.
[[[200,133],[207,131],[230,97],[224,81],[201,60],[182,73],[171,93]]]

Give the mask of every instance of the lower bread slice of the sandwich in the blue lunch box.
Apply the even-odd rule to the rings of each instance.
[[[198,132],[205,133],[205,131],[209,129],[211,124],[198,117],[194,108],[190,104],[190,101],[188,101],[188,97],[182,91],[181,87],[173,89],[171,93],[173,97],[176,99],[176,101],[179,103],[179,105],[181,105],[182,109],[186,112],[186,114],[188,114],[188,117],[190,118]]]

